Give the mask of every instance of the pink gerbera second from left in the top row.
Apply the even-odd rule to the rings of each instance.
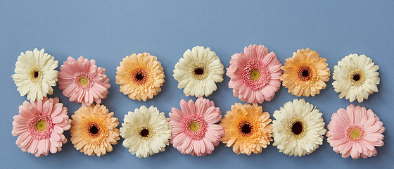
[[[77,61],[68,57],[61,65],[59,72],[59,88],[63,90],[64,96],[70,101],[90,106],[93,101],[101,104],[108,94],[110,84],[108,83],[106,69],[96,66],[96,61],[80,57]]]

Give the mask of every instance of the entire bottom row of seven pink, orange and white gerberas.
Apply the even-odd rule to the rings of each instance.
[[[67,142],[63,132],[70,128],[74,147],[89,156],[112,151],[119,135],[125,138],[123,146],[137,157],[157,154],[170,143],[182,154],[205,156],[221,141],[236,154],[258,154],[274,141],[280,152],[304,156],[322,145],[324,134],[343,158],[376,156],[375,146],[383,146],[385,127],[363,106],[350,105],[333,113],[328,132],[322,113],[304,99],[287,102],[273,116],[272,121],[258,104],[234,104],[222,118],[213,101],[198,98],[196,103],[182,100],[181,110],[172,108],[170,118],[153,106],[136,108],[125,115],[119,130],[117,118],[106,106],[82,106],[70,120],[58,98],[45,98],[19,107],[12,134],[18,136],[16,144],[22,151],[35,156],[61,151]]]

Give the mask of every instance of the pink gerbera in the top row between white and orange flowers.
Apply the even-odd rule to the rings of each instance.
[[[234,96],[251,104],[270,101],[281,87],[281,63],[274,52],[262,45],[249,45],[245,54],[231,56],[226,75]]]

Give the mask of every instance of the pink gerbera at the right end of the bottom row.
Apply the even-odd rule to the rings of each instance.
[[[343,158],[376,156],[375,146],[383,146],[385,127],[378,116],[364,106],[351,104],[346,110],[340,108],[331,116],[327,128],[327,142]]]

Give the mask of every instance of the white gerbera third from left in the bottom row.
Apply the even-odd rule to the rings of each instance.
[[[125,138],[123,146],[137,157],[148,157],[165,151],[170,145],[171,125],[158,108],[141,106],[125,115],[125,123],[120,127],[120,135]]]

